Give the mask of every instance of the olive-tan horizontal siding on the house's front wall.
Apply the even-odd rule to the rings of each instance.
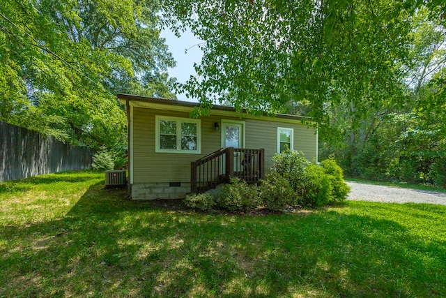
[[[167,107],[168,108],[168,107]],[[155,152],[155,115],[188,118],[188,112],[133,108],[133,183],[190,182],[190,163],[220,149],[221,132],[215,131],[214,123],[221,126],[221,119],[239,120],[238,117],[201,117],[201,154]],[[288,124],[260,119],[245,121],[245,147],[265,149],[266,170],[277,151],[277,127],[294,128],[294,149],[303,151],[310,161],[316,159],[316,134],[314,128],[302,124]],[[298,122],[298,121],[297,121]]]

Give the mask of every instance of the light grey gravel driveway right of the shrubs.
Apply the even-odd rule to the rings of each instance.
[[[429,203],[446,205],[446,193],[395,186],[380,186],[346,181],[351,187],[348,200],[394,203]]]

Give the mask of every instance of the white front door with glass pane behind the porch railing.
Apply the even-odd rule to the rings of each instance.
[[[222,147],[245,148],[244,144],[245,122],[222,120]],[[234,152],[233,169],[240,172],[243,156],[239,152]]]

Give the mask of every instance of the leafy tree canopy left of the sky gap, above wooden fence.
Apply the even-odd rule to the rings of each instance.
[[[174,97],[158,1],[0,6],[0,120],[98,147],[125,139],[115,94]]]

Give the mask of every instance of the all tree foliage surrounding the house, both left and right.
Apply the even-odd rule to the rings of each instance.
[[[318,121],[346,175],[446,187],[445,0],[10,0],[0,120],[125,151],[116,93],[199,98]],[[176,84],[160,27],[204,43]],[[178,88],[176,88],[178,87]],[[122,150],[121,150],[122,149]],[[123,154],[121,154],[123,155]]]

